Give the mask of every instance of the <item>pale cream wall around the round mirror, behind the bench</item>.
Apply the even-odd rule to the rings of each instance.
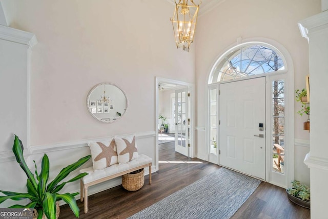
[[[90,153],[85,145],[90,138],[141,133],[138,149],[153,157],[155,164],[155,77],[195,83],[195,47],[190,53],[176,49],[170,22],[174,7],[161,0],[2,3],[10,27],[33,32],[38,38],[31,57],[31,134],[30,144],[25,144],[31,155],[26,155],[27,160],[39,165],[46,152],[54,165],[52,174],[56,174]],[[1,57],[8,56],[4,59],[7,63],[11,52],[0,51],[4,51]],[[6,75],[1,83],[8,84],[9,77],[13,75]],[[129,99],[127,113],[112,124],[96,121],[86,106],[89,90],[102,82],[118,85]],[[10,112],[26,113],[14,98],[3,101]],[[9,117],[8,112],[6,115]],[[21,130],[14,124],[17,121],[11,118],[9,128],[2,129],[0,152],[11,150],[12,133]],[[142,134],[148,132],[152,134]],[[81,141],[84,144],[80,145]],[[8,171],[16,169],[3,162]],[[21,180],[25,182],[25,177]],[[1,189],[16,189],[7,181],[0,182]],[[78,191],[78,187],[74,184],[71,190]]]

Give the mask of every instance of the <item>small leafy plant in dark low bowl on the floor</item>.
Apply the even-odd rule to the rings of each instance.
[[[291,183],[292,187],[286,189],[288,199],[299,206],[310,209],[310,188],[297,180]]]

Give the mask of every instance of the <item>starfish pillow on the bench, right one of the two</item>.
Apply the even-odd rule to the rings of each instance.
[[[139,156],[135,135],[115,137],[115,142],[119,164],[126,164]]]

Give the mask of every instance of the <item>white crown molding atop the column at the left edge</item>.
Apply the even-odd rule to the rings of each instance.
[[[33,33],[0,25],[0,39],[33,47],[37,44]]]

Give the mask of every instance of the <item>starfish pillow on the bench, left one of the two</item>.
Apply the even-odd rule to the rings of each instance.
[[[101,142],[88,142],[91,150],[93,170],[103,170],[118,163],[117,149],[114,138]]]

